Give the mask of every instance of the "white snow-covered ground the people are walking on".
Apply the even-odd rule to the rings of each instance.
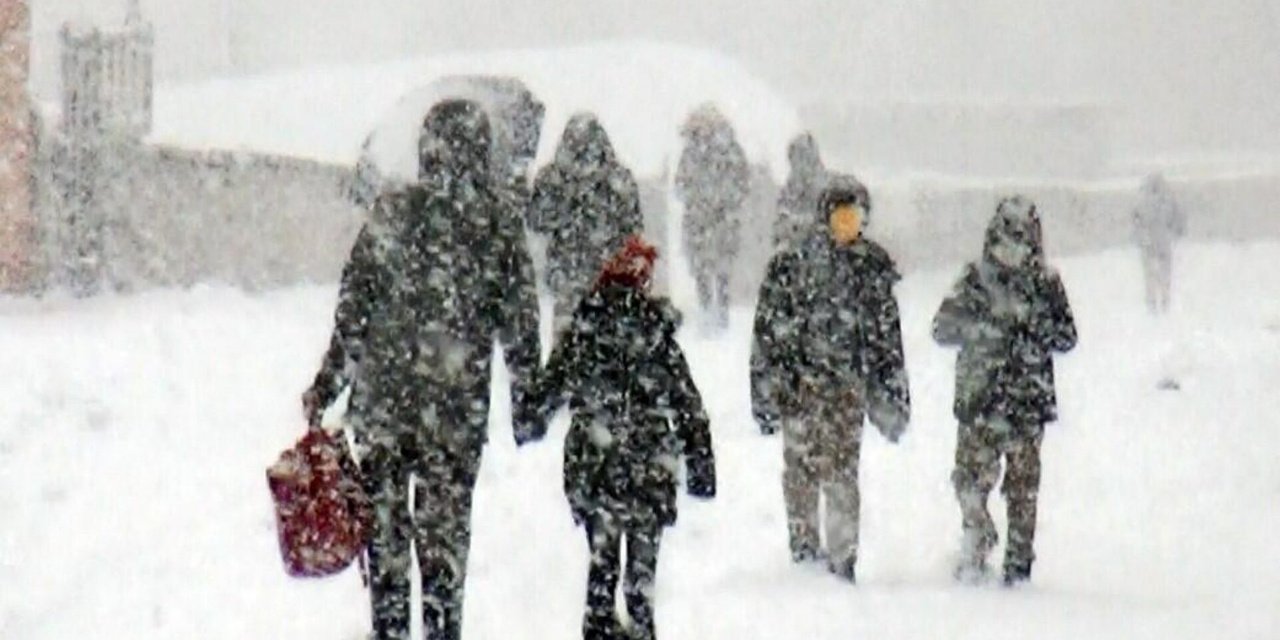
[[[1060,360],[1033,585],[948,579],[952,353],[928,339],[951,270],[900,294],[915,399],[899,447],[864,448],[860,584],[786,558],[781,443],[750,421],[750,310],[684,343],[713,416],[721,497],[663,547],[671,639],[1262,639],[1280,634],[1280,244],[1179,255],[1176,319],[1140,310],[1137,260],[1061,270],[1080,326]],[[0,303],[0,637],[358,637],[355,571],[285,577],[264,470],[334,288]],[[1180,392],[1157,390],[1172,375]],[[558,424],[517,452],[498,402],[475,504],[472,639],[575,637],[585,541],[559,493]],[[1002,511],[998,498],[993,498]],[[1001,517],[1002,520],[1002,517]]]

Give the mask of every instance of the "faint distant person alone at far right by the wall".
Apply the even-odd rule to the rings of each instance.
[[[1187,234],[1187,216],[1158,173],[1143,180],[1140,197],[1133,210],[1133,239],[1142,252],[1147,308],[1165,314],[1172,289],[1174,242]]]

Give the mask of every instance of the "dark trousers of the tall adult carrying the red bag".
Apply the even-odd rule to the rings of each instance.
[[[396,456],[365,471],[374,503],[369,594],[374,640],[408,640],[412,547],[422,586],[422,628],[429,640],[462,637],[462,600],[471,544],[471,494],[477,460],[435,453]],[[410,479],[416,495],[410,512]]]

